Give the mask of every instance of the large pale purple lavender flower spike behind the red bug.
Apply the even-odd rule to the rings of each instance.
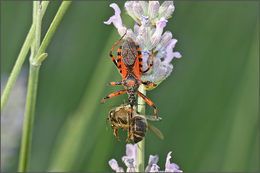
[[[122,36],[127,28],[122,24],[121,11],[115,3],[109,6],[115,10],[115,15],[104,23],[111,24],[113,22],[118,33]],[[181,57],[179,52],[173,52],[177,39],[172,39],[173,34],[170,31],[163,34],[164,27],[168,22],[167,19],[172,16],[174,11],[173,1],[164,1],[161,5],[160,1],[127,1],[125,10],[136,21],[134,29],[128,29],[125,38],[131,37],[140,46],[143,56],[143,70],[150,65],[151,50],[154,48],[153,66],[148,72],[140,74],[140,79],[156,83],[156,87],[158,87],[172,72],[173,65],[170,64],[172,59]],[[155,88],[152,86],[143,87],[146,90]]]

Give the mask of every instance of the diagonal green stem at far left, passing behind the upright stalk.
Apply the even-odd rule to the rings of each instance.
[[[44,16],[44,13],[47,9],[47,6],[49,4],[49,1],[42,1],[41,5],[42,5],[42,16],[41,18]],[[23,62],[26,58],[26,55],[30,49],[31,43],[34,39],[35,36],[35,29],[36,29],[36,20],[34,20],[33,24],[31,25],[31,28],[26,36],[25,42],[23,43],[22,49],[17,57],[17,60],[15,62],[15,65],[13,67],[13,70],[10,74],[10,77],[8,78],[8,82],[5,86],[5,89],[3,91],[3,95],[1,97],[1,115],[3,112],[3,109],[5,107],[5,104],[10,96],[10,93],[12,91],[12,88],[14,86],[14,82],[16,81],[16,78],[22,68]]]

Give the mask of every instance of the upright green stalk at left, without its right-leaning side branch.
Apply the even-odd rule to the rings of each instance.
[[[37,52],[40,47],[40,35],[41,35],[41,24],[42,24],[41,8],[42,6],[37,7],[34,3],[33,11],[37,10],[36,32],[35,32],[36,34],[35,34],[34,41],[32,42],[31,45],[30,62],[34,58],[35,52]],[[28,168],[29,168],[32,129],[34,125],[34,112],[35,112],[35,104],[36,104],[39,71],[40,71],[40,66],[35,67],[30,63],[26,105],[25,105],[25,116],[24,116],[25,118],[24,118],[24,125],[23,125],[19,163],[18,163],[18,172],[28,172]]]

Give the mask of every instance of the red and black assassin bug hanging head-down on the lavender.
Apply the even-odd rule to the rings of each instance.
[[[125,34],[126,33],[127,32],[125,32]],[[122,74],[123,77],[122,81],[109,82],[109,85],[123,85],[125,89],[105,96],[101,103],[104,103],[105,99],[127,92],[127,94],[129,95],[129,102],[131,106],[130,114],[132,117],[133,105],[135,104],[135,94],[138,93],[150,106],[154,108],[156,118],[158,118],[157,109],[153,104],[153,102],[138,91],[138,88],[141,83],[147,86],[157,86],[157,84],[154,84],[149,81],[143,82],[140,79],[140,74],[148,72],[153,65],[153,49],[152,49],[151,64],[146,70],[143,70],[143,61],[142,61],[143,57],[142,57],[141,48],[137,43],[133,41],[131,37],[127,37],[123,41],[122,45],[120,45],[118,48],[117,62],[116,62],[114,56],[112,55],[112,51],[114,50],[116,45],[121,41],[121,39],[125,36],[125,34],[116,42],[116,44],[114,45],[114,47],[111,49],[109,53],[112,61],[114,62],[114,64],[116,65],[116,67],[118,68],[119,72]]]

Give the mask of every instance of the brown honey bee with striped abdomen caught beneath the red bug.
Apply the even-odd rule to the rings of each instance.
[[[144,139],[147,132],[147,127],[154,132],[159,138],[164,139],[160,130],[155,126],[147,122],[148,120],[161,120],[161,118],[156,118],[156,116],[151,115],[140,115],[139,112],[135,111],[136,107],[133,107],[132,118],[130,115],[131,106],[124,104],[118,107],[115,107],[109,112],[109,119],[112,129],[114,129],[114,135],[120,141],[117,129],[121,128],[128,130],[126,142],[130,143],[129,139],[132,139],[134,143],[138,143]],[[107,129],[108,131],[108,129]]]

